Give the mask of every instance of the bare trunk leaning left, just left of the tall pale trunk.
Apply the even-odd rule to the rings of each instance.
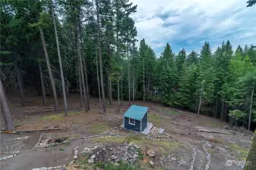
[[[43,51],[46,57],[46,63],[47,63],[47,68],[48,68],[48,72],[49,72],[49,78],[50,78],[50,82],[52,85],[52,93],[54,96],[54,100],[55,100],[55,112],[58,112],[58,100],[57,100],[57,94],[56,94],[56,89],[55,89],[55,84],[54,84],[54,80],[52,77],[52,69],[51,69],[51,64],[49,61],[49,56],[48,56],[48,52],[47,52],[47,48],[46,48],[46,41],[45,38],[43,36],[43,29],[41,27],[39,27],[40,30],[40,36],[41,36],[41,40],[42,40],[42,44],[43,44]]]

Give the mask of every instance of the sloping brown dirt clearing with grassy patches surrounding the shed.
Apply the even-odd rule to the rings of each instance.
[[[72,170],[106,168],[112,165],[103,158],[99,160],[103,159],[104,165],[100,162],[89,163],[92,155],[84,154],[84,148],[103,146],[101,150],[93,153],[96,155],[97,152],[105,154],[106,151],[103,151],[103,148],[110,150],[112,147],[113,150],[122,150],[125,148],[122,146],[136,145],[141,150],[140,154],[129,153],[130,151],[126,154],[124,149],[122,151],[124,156],[121,156],[121,161],[115,162],[115,166],[131,166],[131,169],[234,170],[242,169],[251,144],[250,132],[225,129],[228,126],[225,122],[141,101],[134,102],[134,104],[149,107],[149,122],[157,128],[164,128],[164,133],[146,136],[124,131],[119,126],[122,125],[122,115],[128,109],[128,103],[123,103],[122,113],[118,113],[114,102],[112,106],[108,106],[108,113],[103,115],[99,113],[97,99],[91,100],[93,104],[88,113],[84,113],[77,106],[78,100],[74,98],[74,105],[66,117],[62,111],[53,113],[52,107],[35,107],[33,104],[20,108],[21,110],[13,107],[14,119],[19,125],[17,130],[33,130],[50,126],[63,129],[0,134],[1,157],[9,156],[21,148],[20,153],[1,160],[0,168],[27,170],[59,165],[66,165],[67,169]],[[210,129],[210,131],[223,133],[199,131],[198,129]],[[43,138],[39,141],[41,134]],[[15,138],[19,139],[15,140]],[[43,142],[47,143],[45,147],[36,147],[37,143]],[[79,147],[78,157],[74,159],[76,147]],[[154,156],[149,156],[148,150],[151,150]],[[125,156],[127,159],[124,158]],[[131,163],[131,160],[134,163]],[[70,162],[74,163],[69,165]]]

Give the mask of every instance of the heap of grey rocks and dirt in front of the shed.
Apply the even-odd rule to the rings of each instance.
[[[104,145],[84,148],[88,162],[129,162],[133,164],[141,156],[141,150],[134,144]]]

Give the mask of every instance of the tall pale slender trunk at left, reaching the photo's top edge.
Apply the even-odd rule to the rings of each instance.
[[[65,81],[64,81],[63,69],[62,69],[62,56],[61,56],[61,51],[60,51],[59,45],[58,45],[58,32],[57,32],[57,27],[56,27],[56,22],[55,22],[53,2],[52,2],[51,7],[52,7],[52,20],[53,20],[53,26],[54,26],[54,32],[55,32],[55,39],[56,39],[56,45],[57,45],[57,51],[58,51],[58,63],[59,63],[59,69],[61,72],[61,77],[62,77],[62,95],[63,95],[63,101],[64,101],[64,110],[65,110],[65,116],[67,116],[68,115],[68,106],[67,106],[67,97],[66,97],[66,91],[65,91]]]

